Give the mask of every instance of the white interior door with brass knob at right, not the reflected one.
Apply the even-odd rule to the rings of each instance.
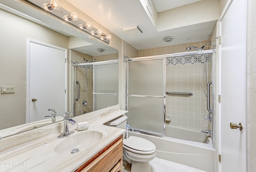
[[[246,0],[220,18],[220,172],[246,172]],[[244,130],[232,130],[242,122]]]

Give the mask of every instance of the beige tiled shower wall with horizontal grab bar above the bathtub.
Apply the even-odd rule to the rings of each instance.
[[[199,62],[194,59],[200,58]],[[167,58],[170,61],[172,58]],[[192,92],[187,95],[166,95],[166,115],[170,115],[170,121],[166,125],[188,128],[193,130],[207,130],[208,122],[204,119],[207,115],[207,98],[202,88],[202,77],[204,71],[204,57],[186,56],[177,57],[177,60],[185,60],[179,64],[168,64],[166,66],[166,91],[169,92]],[[191,60],[191,61],[190,61]],[[204,78],[204,88],[212,80],[211,58],[206,60],[207,78]]]

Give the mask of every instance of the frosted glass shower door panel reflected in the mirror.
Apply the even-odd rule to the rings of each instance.
[[[93,110],[118,104],[118,60],[94,65]]]

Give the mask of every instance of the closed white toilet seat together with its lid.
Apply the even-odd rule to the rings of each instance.
[[[156,146],[152,142],[136,136],[130,136],[126,139],[123,147],[137,154],[153,154],[156,152]]]

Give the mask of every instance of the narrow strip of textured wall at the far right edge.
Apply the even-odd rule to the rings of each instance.
[[[256,1],[248,0],[248,154],[249,170],[256,171]]]

